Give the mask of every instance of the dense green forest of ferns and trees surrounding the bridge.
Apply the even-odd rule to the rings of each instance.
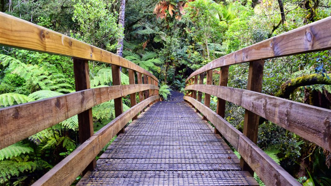
[[[165,100],[208,62],[331,16],[329,0],[1,0],[0,9],[122,55],[159,78]],[[89,66],[92,88],[112,85],[110,66]],[[0,69],[0,108],[74,92],[69,57],[2,47]],[[330,51],[269,59],[262,93],[331,109],[330,73]],[[232,65],[228,86],[246,89],[247,77],[248,64]],[[128,109],[129,97],[123,103]],[[95,131],[115,118],[113,108],[113,100],[93,107]],[[244,113],[226,103],[225,119],[241,131]],[[0,185],[32,184],[79,145],[77,130],[74,116],[0,150]],[[263,118],[258,146],[304,185],[331,185],[330,152]]]

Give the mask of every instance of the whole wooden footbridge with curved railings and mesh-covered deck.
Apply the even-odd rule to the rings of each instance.
[[[330,151],[331,111],[259,93],[263,65],[269,58],[331,49],[330,29],[331,17],[220,57],[187,78],[186,102],[164,102],[158,101],[158,79],[136,64],[0,13],[0,45],[72,57],[76,85],[75,93],[1,108],[0,149],[78,114],[81,145],[33,185],[71,185],[79,175],[78,185],[257,185],[253,172],[266,185],[301,185],[256,145],[259,116]],[[111,64],[113,86],[90,89],[88,61]],[[250,64],[247,90],[226,87],[229,65],[243,62]],[[120,66],[128,69],[130,85],[120,85]],[[219,85],[212,85],[216,68]],[[131,108],[123,112],[125,95]],[[216,112],[209,108],[211,95],[218,97]],[[93,133],[92,107],[111,99],[116,118]],[[243,133],[224,120],[225,101],[246,109]]]

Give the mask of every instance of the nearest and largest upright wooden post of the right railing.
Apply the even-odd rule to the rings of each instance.
[[[261,92],[264,60],[252,61],[249,63],[247,90]],[[245,110],[244,135],[255,144],[258,141],[259,115],[249,110]],[[252,175],[254,171],[248,164],[240,159],[240,166],[244,171],[249,171]]]

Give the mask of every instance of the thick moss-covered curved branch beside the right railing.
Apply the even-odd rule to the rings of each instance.
[[[328,74],[328,76],[331,76],[331,74]],[[275,96],[289,98],[290,94],[293,93],[293,91],[295,91],[298,87],[316,84],[331,85],[331,78],[328,79],[321,74],[309,74],[291,79],[280,86],[280,90],[275,94]]]

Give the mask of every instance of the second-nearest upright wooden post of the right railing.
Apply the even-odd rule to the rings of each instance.
[[[229,77],[229,66],[223,66],[219,70],[219,86],[227,87]],[[216,113],[220,115],[222,118],[225,117],[225,100],[221,98],[217,98],[217,106]],[[215,128],[214,131],[216,134],[220,134],[220,132]]]

